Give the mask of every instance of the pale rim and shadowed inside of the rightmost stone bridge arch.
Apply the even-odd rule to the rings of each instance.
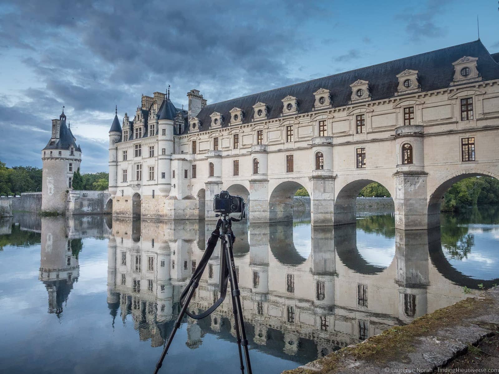
[[[480,169],[464,169],[438,177],[436,187],[428,186],[428,228],[440,226],[440,205],[442,198],[445,192],[455,183],[470,177],[493,177],[499,179],[498,174]]]

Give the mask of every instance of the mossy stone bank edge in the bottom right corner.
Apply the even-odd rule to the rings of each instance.
[[[499,287],[283,374],[431,372],[499,328]]]

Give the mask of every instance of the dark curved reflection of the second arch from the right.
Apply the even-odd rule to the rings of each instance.
[[[367,262],[357,249],[357,230],[355,224],[334,227],[334,248],[339,259],[350,270],[361,274],[378,274],[386,270]]]

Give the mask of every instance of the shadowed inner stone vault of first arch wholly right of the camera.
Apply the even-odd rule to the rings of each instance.
[[[282,182],[274,187],[268,201],[270,222],[293,219],[294,194],[301,187],[304,187],[310,195],[306,186],[295,181]],[[308,210],[310,210],[310,206],[308,206]]]

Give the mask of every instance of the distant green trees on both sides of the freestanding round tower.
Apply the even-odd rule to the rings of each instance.
[[[73,176],[73,188],[102,191],[108,187],[109,174],[80,174],[79,169]],[[41,191],[41,169],[32,166],[7,168],[0,161],[0,196],[19,195],[21,192]]]

